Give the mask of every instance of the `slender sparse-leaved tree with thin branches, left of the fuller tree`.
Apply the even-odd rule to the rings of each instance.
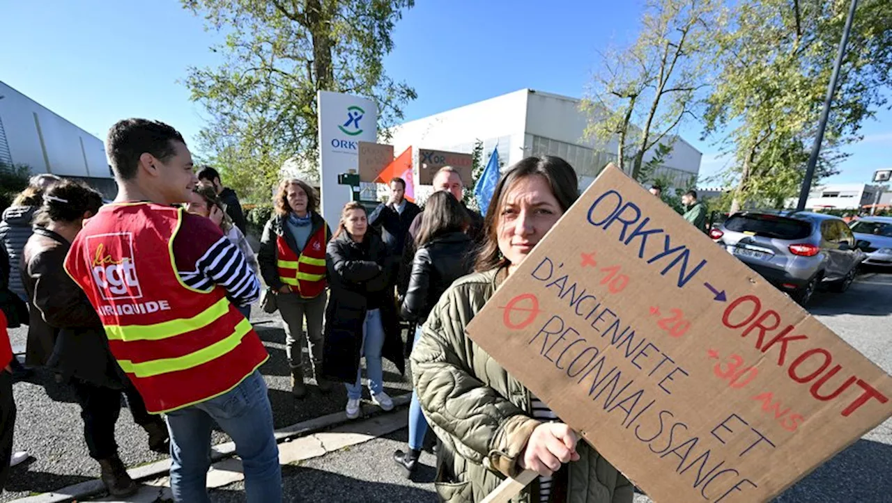
[[[722,12],[717,0],[648,0],[635,43],[600,54],[582,101],[590,115],[585,135],[602,146],[615,141],[617,164],[636,180],[652,174],[645,155],[659,148],[665,157],[678,127],[696,118],[708,83],[709,31],[722,24]]]

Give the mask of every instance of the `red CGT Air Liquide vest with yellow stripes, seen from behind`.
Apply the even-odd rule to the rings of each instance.
[[[227,393],[269,357],[222,287],[180,279],[173,239],[181,208],[108,205],[71,243],[65,271],[103,321],[109,348],[161,413]]]

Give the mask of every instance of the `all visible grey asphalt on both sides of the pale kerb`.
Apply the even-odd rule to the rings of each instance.
[[[819,320],[850,345],[892,373],[892,274],[869,273],[860,277],[845,294],[819,293],[809,306]],[[270,400],[276,426],[287,426],[306,418],[341,410],[346,398],[339,388],[329,397],[312,389],[310,397],[296,402],[287,392],[284,331],[276,316],[256,313],[256,326],[271,354],[261,368],[270,386]],[[21,330],[13,332],[13,345],[23,344]],[[408,390],[390,364],[385,367],[388,392]],[[87,457],[80,433],[78,406],[70,395],[40,375],[32,383],[15,386],[19,419],[16,423],[16,449],[36,455],[27,466],[13,469],[8,489],[0,501],[19,498],[30,491],[49,491],[78,483],[98,473]],[[50,395],[54,398],[51,399]],[[133,424],[126,410],[118,423],[117,438],[121,456],[128,466],[153,461],[159,456],[145,450],[145,434]],[[216,441],[223,442],[224,434]],[[390,458],[404,445],[405,430],[347,450],[287,466],[287,501],[434,501],[432,481],[434,458],[425,455],[425,464],[411,483],[402,477]],[[840,452],[813,474],[780,496],[780,503],[865,502],[892,500],[892,421],[875,428]],[[244,501],[241,483],[213,491],[216,501]],[[644,496],[636,503],[648,501]]]

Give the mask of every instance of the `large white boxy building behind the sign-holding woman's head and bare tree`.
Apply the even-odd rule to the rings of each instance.
[[[615,140],[598,145],[584,138],[588,121],[580,100],[521,89],[395,126],[389,143],[396,154],[409,146],[471,153],[480,140],[483,162],[498,145],[505,166],[527,156],[555,155],[574,166],[582,189],[616,158]],[[650,157],[648,152],[645,160]],[[696,183],[701,157],[690,143],[676,137],[672,154],[655,175],[680,187]]]

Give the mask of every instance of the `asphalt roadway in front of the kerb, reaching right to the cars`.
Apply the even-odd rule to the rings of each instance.
[[[819,293],[809,306],[850,345],[892,373],[892,274],[868,273],[845,294]],[[401,412],[404,413],[404,412]],[[413,481],[392,461],[405,449],[407,430],[283,468],[285,501],[436,501],[434,456],[424,453]],[[892,420],[776,499],[777,503],[888,503],[892,501]],[[211,491],[214,503],[244,501],[244,483]],[[648,503],[637,494],[635,503]]]

